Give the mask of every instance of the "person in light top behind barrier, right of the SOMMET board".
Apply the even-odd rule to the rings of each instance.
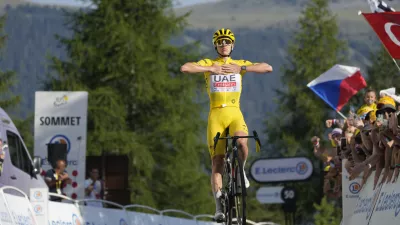
[[[90,177],[85,180],[85,199],[101,199],[103,192],[102,182],[99,180],[99,170],[92,168]],[[93,207],[103,207],[100,201],[87,201],[86,205]]]

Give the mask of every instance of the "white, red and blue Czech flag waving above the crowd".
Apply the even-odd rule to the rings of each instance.
[[[339,64],[307,84],[307,87],[336,111],[340,111],[353,95],[366,86],[367,82],[359,68]]]

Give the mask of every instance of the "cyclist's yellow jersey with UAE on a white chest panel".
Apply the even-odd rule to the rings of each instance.
[[[196,64],[199,66],[212,66],[213,64],[223,65],[235,63],[239,66],[250,66],[252,63],[247,60],[234,60],[230,57],[226,62],[222,57],[214,60],[202,59]],[[242,93],[242,77],[245,74],[241,71],[239,74],[211,74],[204,73],[208,97],[210,98],[210,109],[219,107],[238,107],[240,108],[240,95]]]

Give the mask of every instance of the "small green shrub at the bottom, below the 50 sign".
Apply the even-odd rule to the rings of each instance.
[[[334,203],[329,203],[327,197],[323,197],[321,204],[314,203],[316,213],[314,215],[315,225],[338,225],[342,218],[342,209]]]

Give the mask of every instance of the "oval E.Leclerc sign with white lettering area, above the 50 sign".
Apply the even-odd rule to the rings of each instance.
[[[303,181],[312,173],[313,165],[306,157],[258,159],[250,168],[257,183]]]

